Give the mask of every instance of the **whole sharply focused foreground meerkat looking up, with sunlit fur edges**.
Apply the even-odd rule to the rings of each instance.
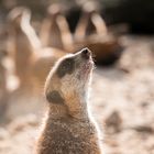
[[[88,110],[94,62],[84,48],[62,57],[45,82],[47,118],[36,154],[102,154],[99,129]]]

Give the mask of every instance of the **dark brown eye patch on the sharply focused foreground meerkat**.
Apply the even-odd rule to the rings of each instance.
[[[72,74],[75,69],[75,61],[74,58],[66,58],[58,66],[57,75],[58,77],[64,77],[66,74]]]

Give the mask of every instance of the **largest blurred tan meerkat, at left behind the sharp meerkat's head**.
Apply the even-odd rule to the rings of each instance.
[[[44,48],[30,24],[31,12],[25,8],[15,8],[9,14],[12,40],[14,41],[15,73],[20,86],[41,88],[53,64],[65,53],[56,48]],[[12,50],[12,48],[11,48]]]

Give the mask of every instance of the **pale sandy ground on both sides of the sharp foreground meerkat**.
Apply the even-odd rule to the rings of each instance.
[[[154,38],[121,40],[125,50],[118,64],[95,69],[90,109],[105,134],[107,154],[154,154]],[[35,106],[14,103],[15,118],[0,127],[0,154],[33,152],[42,121],[37,112],[44,112]]]

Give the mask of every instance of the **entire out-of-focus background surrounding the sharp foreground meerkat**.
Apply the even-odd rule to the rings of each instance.
[[[92,51],[90,109],[108,154],[154,154],[153,0],[0,0],[0,154],[31,154],[55,62]]]

